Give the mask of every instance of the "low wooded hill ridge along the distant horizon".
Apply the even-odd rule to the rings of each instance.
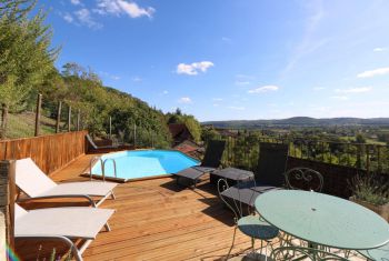
[[[320,126],[389,126],[389,118],[323,118],[293,117],[280,120],[231,120],[231,121],[206,121],[216,128],[230,129],[256,129],[265,127],[320,127]]]

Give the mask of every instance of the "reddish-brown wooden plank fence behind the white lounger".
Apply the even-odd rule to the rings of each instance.
[[[88,131],[0,141],[0,160],[31,158],[47,174],[86,153]]]

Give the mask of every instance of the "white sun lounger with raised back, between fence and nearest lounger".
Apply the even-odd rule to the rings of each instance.
[[[117,183],[101,181],[53,182],[30,159],[17,160],[16,184],[30,199],[44,198],[84,198],[93,207],[101,204],[108,197],[114,199],[113,189]],[[92,197],[99,197],[96,203]]]

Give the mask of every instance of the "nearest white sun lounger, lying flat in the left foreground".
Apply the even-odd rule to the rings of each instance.
[[[69,245],[72,258],[82,260],[82,253],[96,239],[102,227],[109,231],[109,218],[114,210],[88,207],[50,208],[26,211],[14,205],[14,238],[59,240]],[[77,248],[72,240],[84,240]]]

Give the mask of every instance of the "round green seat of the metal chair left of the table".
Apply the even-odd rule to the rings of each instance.
[[[238,228],[242,233],[260,240],[271,240],[279,233],[279,230],[276,227],[260,220],[258,215],[240,218],[238,220]]]

